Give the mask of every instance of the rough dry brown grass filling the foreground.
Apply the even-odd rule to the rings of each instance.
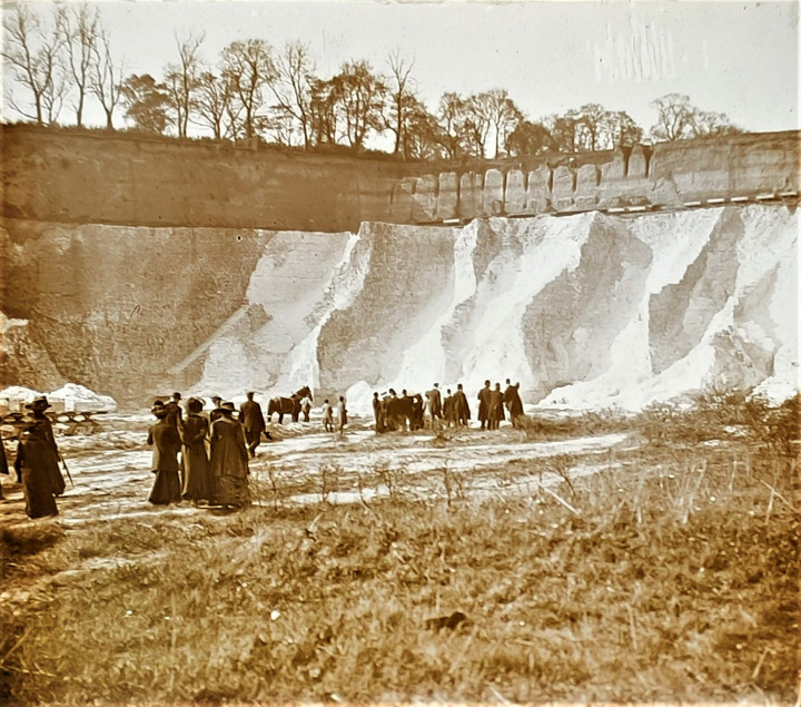
[[[629,463],[526,498],[7,530],[2,699],[792,703],[782,410],[654,409]]]

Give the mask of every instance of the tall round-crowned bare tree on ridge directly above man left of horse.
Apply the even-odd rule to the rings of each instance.
[[[270,46],[261,39],[234,41],[222,50],[224,77],[244,111],[245,137],[257,134],[257,111],[264,104],[264,87],[277,72]]]

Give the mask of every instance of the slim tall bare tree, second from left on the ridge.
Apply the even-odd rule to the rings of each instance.
[[[76,124],[83,125],[83,104],[90,89],[92,63],[96,61],[96,46],[100,38],[100,14],[97,8],[90,10],[86,2],[56,9],[56,28],[66,47],[67,66],[71,84],[76,89]]]

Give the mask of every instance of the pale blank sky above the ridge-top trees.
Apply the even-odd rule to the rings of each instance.
[[[626,110],[647,131],[656,117],[649,104],[680,92],[699,108],[728,114],[746,130],[800,127],[798,2],[98,4],[112,48],[126,58],[127,73],[160,77],[164,66],[175,60],[175,33],[205,31],[201,53],[209,63],[235,39],[260,38],[276,49],[297,39],[309,46],[324,78],[348,59],[367,59],[385,71],[388,53],[397,48],[414,59],[429,109],[444,91],[505,88],[534,120],[600,102]],[[70,117],[67,111],[62,119]]]

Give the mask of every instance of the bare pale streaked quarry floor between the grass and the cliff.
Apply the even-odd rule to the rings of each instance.
[[[168,508],[147,501],[152,484],[151,449],[146,445],[147,415],[109,415],[95,434],[58,436],[72,482],[57,501],[58,522],[83,526],[122,518],[196,515],[210,509],[189,502]],[[254,504],[293,507],[320,501],[330,504],[369,502],[376,498],[461,497],[503,498],[536,494],[562,481],[560,473],[532,470],[531,460],[547,462],[570,455],[563,472],[571,478],[599,469],[617,468],[615,451],[637,442],[624,433],[596,434],[566,440],[536,440],[508,423],[497,431],[449,429],[376,434],[372,421],[354,419],[345,434],[327,433],[309,423],[269,425],[273,441],[263,441],[250,462]],[[7,444],[9,464],[16,445]],[[515,471],[520,464],[521,469]],[[497,470],[503,468],[501,478]],[[0,528],[30,523],[24,515],[22,488],[13,471],[2,478]]]

